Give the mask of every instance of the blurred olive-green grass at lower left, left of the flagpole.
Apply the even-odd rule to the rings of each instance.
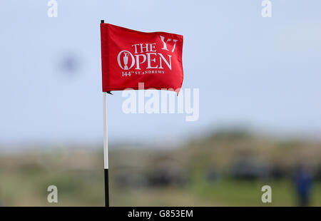
[[[38,170],[0,174],[0,202],[4,206],[102,206],[103,171]],[[58,187],[58,204],[47,202],[47,187]]]

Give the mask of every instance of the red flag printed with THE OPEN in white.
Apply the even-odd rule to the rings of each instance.
[[[173,89],[183,83],[183,36],[101,23],[103,91]]]

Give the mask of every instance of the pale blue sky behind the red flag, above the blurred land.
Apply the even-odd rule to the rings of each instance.
[[[100,143],[99,22],[184,36],[183,88],[200,88],[200,118],[126,115],[108,97],[111,143],[190,137],[245,123],[275,133],[321,133],[321,2],[260,0],[0,2],[0,144]],[[58,68],[75,54],[78,69]]]

